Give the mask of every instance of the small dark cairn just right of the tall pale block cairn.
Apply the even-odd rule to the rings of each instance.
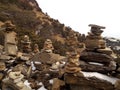
[[[23,53],[30,53],[31,50],[31,41],[28,35],[24,36],[24,39],[21,41],[22,44],[22,52]]]

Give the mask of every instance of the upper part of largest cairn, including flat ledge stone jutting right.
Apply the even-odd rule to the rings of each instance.
[[[106,42],[101,36],[101,34],[103,33],[103,30],[101,29],[105,29],[105,27],[94,24],[90,24],[89,26],[91,27],[91,31],[88,32],[88,35],[86,37],[86,49],[88,51],[91,50],[111,55],[113,53],[112,50],[106,47]]]

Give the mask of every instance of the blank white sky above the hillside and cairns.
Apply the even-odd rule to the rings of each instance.
[[[87,34],[88,24],[105,26],[103,36],[120,38],[120,0],[37,0],[43,12]]]

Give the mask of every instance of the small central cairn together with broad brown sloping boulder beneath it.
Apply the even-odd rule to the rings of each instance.
[[[55,54],[53,52],[54,47],[50,39],[46,39],[43,49],[40,53],[37,53],[32,60],[38,70],[44,70],[41,66],[48,66],[48,69],[55,63],[61,61],[65,57]],[[57,63],[58,64],[58,63]],[[42,69],[41,69],[42,68]],[[53,69],[53,67],[52,67]]]

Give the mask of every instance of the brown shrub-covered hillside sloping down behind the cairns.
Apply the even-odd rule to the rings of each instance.
[[[35,0],[0,0],[0,25],[6,20],[11,20],[16,25],[18,41],[27,34],[32,43],[39,44],[41,49],[43,41],[50,38],[56,53],[64,54],[70,33],[75,34],[80,41],[81,36],[84,37],[43,13]],[[4,42],[3,33],[0,31],[0,44]]]

